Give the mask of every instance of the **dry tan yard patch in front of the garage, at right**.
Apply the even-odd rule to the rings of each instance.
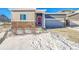
[[[79,43],[79,32],[68,28],[50,29],[51,32],[57,32],[64,37],[68,37],[68,40]]]

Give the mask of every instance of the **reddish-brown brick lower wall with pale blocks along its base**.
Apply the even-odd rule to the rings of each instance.
[[[12,22],[12,32],[14,34],[41,33],[45,32],[42,27],[36,26],[35,22]]]

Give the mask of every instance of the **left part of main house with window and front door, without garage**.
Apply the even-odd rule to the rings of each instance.
[[[17,29],[35,29],[43,28],[44,11],[33,8],[16,8],[12,9],[12,29],[16,32]]]

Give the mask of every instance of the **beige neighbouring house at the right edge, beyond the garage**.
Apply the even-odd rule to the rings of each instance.
[[[66,14],[66,25],[71,27],[79,26],[79,10],[64,10],[59,13]]]

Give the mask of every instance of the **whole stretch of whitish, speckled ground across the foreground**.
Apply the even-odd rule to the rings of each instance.
[[[54,32],[25,35],[13,35],[9,32],[7,38],[0,44],[0,49],[74,50],[79,49],[79,44],[71,42],[67,40],[67,38]]]

